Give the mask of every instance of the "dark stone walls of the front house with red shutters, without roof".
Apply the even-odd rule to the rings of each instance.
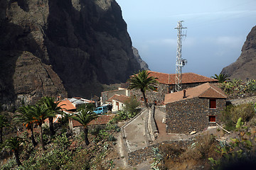
[[[208,98],[190,98],[168,103],[166,104],[166,132],[202,131],[208,126],[215,125],[215,123],[209,123],[209,115],[215,115],[216,123],[220,123],[220,111],[225,109],[225,99],[216,99],[216,107],[216,109],[209,108]]]

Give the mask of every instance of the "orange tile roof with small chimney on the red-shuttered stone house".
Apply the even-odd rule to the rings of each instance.
[[[183,98],[183,91],[166,94],[164,103],[173,103],[176,101],[183,101],[188,98],[227,98],[225,93],[217,86],[206,83],[199,86],[186,89],[186,98]]]

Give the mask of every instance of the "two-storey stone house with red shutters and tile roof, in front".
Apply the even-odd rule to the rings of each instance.
[[[202,131],[220,123],[227,96],[217,86],[206,83],[166,94],[166,132]]]

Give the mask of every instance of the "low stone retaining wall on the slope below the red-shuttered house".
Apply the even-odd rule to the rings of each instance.
[[[186,149],[186,147],[188,147],[192,143],[193,143],[193,140],[165,141],[165,142],[157,143],[155,145],[150,145],[149,147],[138,149],[134,152],[129,152],[128,165],[136,166],[137,164],[146,162],[147,159],[154,158],[154,153],[152,151],[153,147],[161,147],[161,145],[164,145],[164,144],[171,144],[171,145],[174,145],[174,147]]]

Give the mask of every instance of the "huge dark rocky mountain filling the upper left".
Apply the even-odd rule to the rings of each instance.
[[[0,0],[0,103],[100,95],[139,62],[114,0]]]

